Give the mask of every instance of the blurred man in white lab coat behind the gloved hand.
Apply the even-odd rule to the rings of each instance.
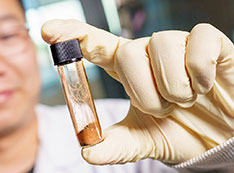
[[[104,167],[83,161],[67,107],[38,104],[40,74],[25,23],[20,1],[0,0],[0,172],[168,171],[152,161]],[[105,128],[122,118],[117,117],[116,108],[126,114],[129,102],[107,100],[96,105]]]

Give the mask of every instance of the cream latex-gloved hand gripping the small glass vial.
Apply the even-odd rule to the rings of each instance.
[[[42,37],[49,44],[79,39],[84,57],[130,96],[126,118],[104,131],[103,142],[83,148],[89,163],[179,163],[233,136],[234,46],[213,26],[129,40],[77,20],[53,20]]]

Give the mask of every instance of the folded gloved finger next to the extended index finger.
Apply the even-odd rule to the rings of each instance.
[[[148,41],[149,38],[137,39],[119,47],[114,71],[135,107],[162,118],[172,110],[173,105],[165,101],[157,91],[146,52]]]

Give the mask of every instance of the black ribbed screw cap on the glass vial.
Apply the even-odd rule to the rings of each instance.
[[[54,65],[64,65],[81,60],[83,57],[77,39],[55,43],[50,46]]]

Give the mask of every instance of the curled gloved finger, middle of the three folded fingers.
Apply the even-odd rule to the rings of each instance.
[[[153,34],[148,51],[157,87],[164,99],[182,107],[196,100],[185,69],[185,46],[188,33],[164,31]]]

